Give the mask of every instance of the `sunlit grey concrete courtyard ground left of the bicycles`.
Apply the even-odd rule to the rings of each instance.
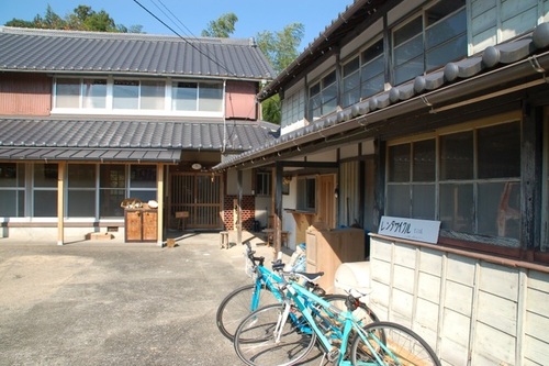
[[[217,233],[175,247],[0,239],[0,365],[240,365],[215,324],[221,300],[250,281],[234,235],[228,249]]]

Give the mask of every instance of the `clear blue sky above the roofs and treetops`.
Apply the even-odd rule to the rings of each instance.
[[[248,38],[262,31],[281,31],[290,23],[305,25],[300,52],[313,42],[354,0],[137,0],[183,36],[200,36],[212,20],[233,12],[238,16],[233,37]],[[117,24],[139,24],[149,34],[173,34],[143,10],[134,0],[0,0],[0,25],[13,18],[32,20],[44,15],[47,4],[59,15],[71,13],[79,4],[104,10]],[[173,22],[161,11],[171,12]],[[180,23],[179,23],[180,22]]]

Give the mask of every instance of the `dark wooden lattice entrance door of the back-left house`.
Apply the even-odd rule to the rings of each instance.
[[[171,173],[168,193],[169,228],[222,228],[221,175],[209,173]],[[188,218],[176,218],[176,212],[188,212]],[[186,220],[184,224],[178,222]]]

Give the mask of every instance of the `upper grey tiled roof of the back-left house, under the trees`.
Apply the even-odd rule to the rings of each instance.
[[[255,42],[0,26],[0,70],[271,79]]]

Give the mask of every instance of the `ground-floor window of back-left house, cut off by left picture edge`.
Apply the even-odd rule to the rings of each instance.
[[[25,215],[25,166],[20,163],[0,163],[0,217]]]

